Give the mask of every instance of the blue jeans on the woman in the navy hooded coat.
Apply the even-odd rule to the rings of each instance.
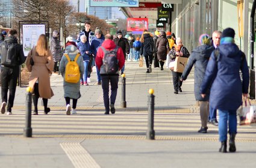
[[[219,140],[227,140],[227,134],[237,133],[237,113],[236,110],[219,110]],[[228,130],[229,128],[229,130]]]

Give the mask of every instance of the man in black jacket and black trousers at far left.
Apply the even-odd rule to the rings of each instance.
[[[11,44],[15,44],[11,53],[13,52],[14,56],[11,56],[11,65],[5,65],[4,61],[8,55],[8,49],[6,46],[11,46]],[[8,37],[5,38],[4,42],[0,46],[0,54],[2,55],[1,65],[1,94],[2,94],[2,106],[1,106],[1,113],[5,113],[5,106],[7,105],[7,115],[11,115],[11,108],[13,107],[13,101],[15,97],[16,85],[17,85],[17,78],[19,76],[19,65],[25,62],[25,56],[23,53],[22,46],[17,44],[17,31],[11,29],[8,32]],[[4,65],[3,65],[4,64]],[[7,104],[7,93],[9,89],[9,100]]]

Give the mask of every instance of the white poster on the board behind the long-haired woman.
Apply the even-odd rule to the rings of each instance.
[[[39,35],[45,34],[45,25],[23,25],[22,44],[25,56],[36,46]]]

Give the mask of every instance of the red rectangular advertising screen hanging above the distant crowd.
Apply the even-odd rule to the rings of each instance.
[[[127,18],[127,31],[148,30],[148,18]]]

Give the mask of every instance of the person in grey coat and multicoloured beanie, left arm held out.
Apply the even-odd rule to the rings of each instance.
[[[201,117],[201,128],[198,133],[207,133],[207,121],[208,121],[208,100],[210,92],[207,92],[207,96],[202,98],[200,93],[200,87],[202,80],[204,79],[205,69],[207,67],[211,53],[214,51],[214,47],[210,45],[210,36],[208,34],[202,34],[199,37],[199,47],[193,49],[189,62],[187,63],[183,74],[181,75],[181,80],[186,80],[189,76],[192,67],[195,65],[194,71],[194,92],[195,98],[199,101],[199,112]]]

